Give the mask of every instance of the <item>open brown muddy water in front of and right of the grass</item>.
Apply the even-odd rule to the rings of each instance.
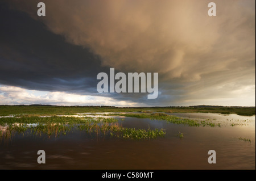
[[[125,140],[83,131],[50,138],[17,133],[0,143],[0,169],[255,169],[255,116],[176,116],[210,119],[222,126],[188,127],[126,117],[120,121],[123,127],[164,128],[166,136]],[[177,136],[179,132],[183,138]],[[251,142],[239,137],[250,138]],[[41,149],[46,151],[46,164],[37,163],[37,151]],[[216,151],[216,164],[208,163],[209,150]]]

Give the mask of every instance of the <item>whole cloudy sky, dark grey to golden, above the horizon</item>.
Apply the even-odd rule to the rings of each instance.
[[[255,106],[254,0],[40,2],[0,2],[0,104]],[[98,92],[110,68],[158,73],[158,98]]]

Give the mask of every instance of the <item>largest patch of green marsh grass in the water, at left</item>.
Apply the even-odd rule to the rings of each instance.
[[[132,139],[156,138],[166,134],[163,129],[123,128],[117,119],[105,117],[2,117],[0,125],[0,137],[5,138],[14,133],[47,134],[49,137],[54,134],[57,137],[77,129],[97,135],[110,134],[115,137]]]

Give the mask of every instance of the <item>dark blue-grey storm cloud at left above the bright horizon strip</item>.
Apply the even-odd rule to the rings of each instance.
[[[26,13],[0,6],[0,83],[27,89],[96,92],[109,69],[88,49],[69,44]]]

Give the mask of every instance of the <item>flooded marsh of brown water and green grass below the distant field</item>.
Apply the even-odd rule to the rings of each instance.
[[[2,117],[0,168],[255,169],[255,116],[160,114],[172,117],[165,120],[155,115],[159,113]],[[3,120],[15,123],[15,129],[8,129]],[[42,149],[46,164],[36,161]],[[208,163],[209,150],[216,151],[216,164]]]

